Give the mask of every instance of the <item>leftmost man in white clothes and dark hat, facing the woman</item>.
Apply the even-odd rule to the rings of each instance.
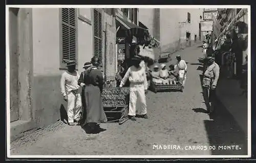
[[[68,70],[61,75],[60,86],[61,94],[65,101],[68,101],[67,114],[68,123],[71,126],[79,122],[79,113],[81,111],[81,96],[78,92],[79,74],[76,71],[76,62],[67,63]]]

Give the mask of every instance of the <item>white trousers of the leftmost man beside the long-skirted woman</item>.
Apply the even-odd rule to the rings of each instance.
[[[74,122],[74,120],[79,120],[79,113],[82,108],[81,96],[79,92],[68,93],[68,106],[67,114],[69,123]]]

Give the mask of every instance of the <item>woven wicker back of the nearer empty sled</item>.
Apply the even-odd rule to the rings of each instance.
[[[102,91],[103,106],[121,106],[129,103],[129,88],[105,88]]]

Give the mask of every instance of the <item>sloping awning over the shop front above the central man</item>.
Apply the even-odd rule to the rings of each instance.
[[[126,30],[126,36],[136,36],[141,37],[144,36],[145,33],[148,33],[148,31],[136,24],[133,24],[127,20],[124,20],[123,18],[116,16],[116,20],[119,21],[127,30]]]

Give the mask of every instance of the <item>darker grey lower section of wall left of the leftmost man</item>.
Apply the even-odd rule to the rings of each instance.
[[[34,76],[34,119],[37,127],[45,127],[62,119],[67,102],[61,97],[59,75]],[[61,117],[62,116],[62,117]]]

